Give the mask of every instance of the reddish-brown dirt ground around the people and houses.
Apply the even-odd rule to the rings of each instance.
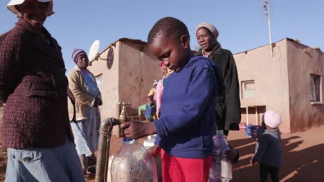
[[[0,127],[2,121],[0,108]],[[282,134],[283,165],[280,181],[324,181],[324,125],[304,132]],[[259,165],[249,163],[255,149],[255,141],[246,138],[245,132],[230,132],[228,141],[240,152],[238,165],[233,166],[232,182],[258,181]],[[116,154],[121,147],[121,138],[111,137],[110,154]],[[143,143],[143,139],[140,140]],[[0,136],[0,181],[6,175],[6,150],[1,146]],[[88,181],[94,181],[90,176]]]

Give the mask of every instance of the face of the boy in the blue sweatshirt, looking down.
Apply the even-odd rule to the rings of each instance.
[[[174,72],[179,72],[188,61],[188,47],[189,39],[186,35],[177,38],[158,34],[149,45],[151,54]]]

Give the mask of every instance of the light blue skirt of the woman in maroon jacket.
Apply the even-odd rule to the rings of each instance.
[[[85,181],[75,147],[69,139],[57,148],[8,148],[6,182]]]

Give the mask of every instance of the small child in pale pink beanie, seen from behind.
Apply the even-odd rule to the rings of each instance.
[[[280,132],[278,126],[281,118],[277,112],[267,111],[262,116],[262,126],[265,132],[259,136],[255,154],[251,163],[260,163],[260,181],[267,181],[270,174],[272,181],[279,181],[279,166],[282,165]]]

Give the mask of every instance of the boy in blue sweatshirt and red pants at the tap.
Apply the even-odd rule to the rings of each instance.
[[[151,54],[174,70],[165,80],[161,118],[120,125],[127,138],[155,134],[152,154],[161,150],[163,181],[208,181],[213,151],[217,65],[193,57],[184,23],[165,17],[148,35]]]

